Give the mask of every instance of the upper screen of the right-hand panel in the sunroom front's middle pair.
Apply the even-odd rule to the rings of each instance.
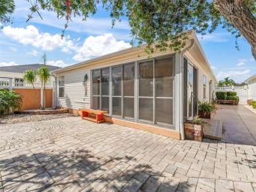
[[[134,96],[135,86],[135,65],[127,64],[123,66],[123,96]]]

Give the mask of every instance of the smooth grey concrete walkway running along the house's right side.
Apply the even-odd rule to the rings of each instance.
[[[256,146],[256,113],[243,105],[221,105],[215,119],[223,121],[223,141]]]

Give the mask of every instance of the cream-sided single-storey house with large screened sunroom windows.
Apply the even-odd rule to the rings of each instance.
[[[107,122],[184,139],[184,120],[198,113],[198,100],[211,101],[217,84],[194,31],[188,37],[181,52],[149,58],[142,45],[54,70],[56,106],[106,110]]]

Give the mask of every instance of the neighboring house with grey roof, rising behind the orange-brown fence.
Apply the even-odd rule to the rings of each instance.
[[[36,71],[37,69],[39,69],[42,66],[43,66],[43,64],[31,64],[31,65],[0,67],[0,78],[12,79],[12,83],[14,83],[14,86],[20,86],[24,82],[22,79],[22,75],[23,75],[24,71],[27,71],[29,69]],[[49,71],[60,69],[60,67],[55,67],[55,66],[47,65],[47,67],[48,67]],[[37,81],[39,81],[39,79],[37,79]],[[53,76],[51,76],[50,81],[54,81]]]

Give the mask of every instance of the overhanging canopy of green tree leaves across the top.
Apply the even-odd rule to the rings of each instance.
[[[66,18],[64,32],[68,28],[68,22],[72,22],[75,16],[81,16],[81,20],[86,21],[89,16],[93,16],[97,9],[96,6],[102,3],[102,9],[110,12],[112,18],[112,27],[116,21],[123,17],[128,18],[131,27],[131,45],[141,45],[147,43],[145,52],[152,54],[156,50],[165,52],[167,48],[179,51],[186,45],[188,39],[186,33],[188,29],[194,29],[196,33],[205,35],[212,33],[217,26],[226,28],[234,37],[242,36],[240,31],[234,27],[234,21],[228,20],[228,14],[221,14],[215,9],[217,1],[209,0],[26,0],[31,3],[31,14],[28,14],[28,20],[33,18],[33,13],[40,15],[39,9],[47,9],[56,12],[57,18]],[[223,0],[224,1],[224,0]],[[218,2],[223,2],[218,1]],[[221,5],[224,8],[233,7],[235,1],[228,1],[229,4]],[[256,16],[256,1],[241,0],[246,10],[249,10],[251,18]],[[236,2],[236,3],[238,3]],[[233,4],[232,4],[233,3]],[[0,1],[0,22],[10,21],[6,15],[14,10],[13,0]],[[247,14],[241,13],[245,18]],[[226,15],[226,16],[224,16]],[[253,22],[254,21],[254,22]],[[233,22],[233,23],[232,23]],[[255,20],[251,21],[255,24]],[[240,26],[243,28],[243,26]],[[243,32],[246,33],[253,29]],[[255,48],[255,37],[253,41],[248,41]],[[248,39],[247,39],[248,40]],[[237,42],[236,42],[237,43]],[[238,45],[236,44],[238,48]],[[256,53],[255,53],[256,54]]]

